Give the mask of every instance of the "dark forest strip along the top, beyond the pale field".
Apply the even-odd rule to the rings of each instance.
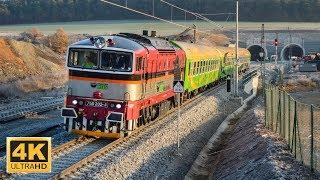
[[[112,0],[125,5],[126,0]],[[167,0],[201,13],[235,12],[235,0]],[[152,0],[127,0],[128,7],[152,14]],[[155,2],[155,15],[170,19],[171,8]],[[308,21],[318,22],[320,0],[239,0],[241,21]],[[174,9],[173,19],[184,20],[184,12]],[[228,15],[212,16],[226,20]],[[148,19],[101,2],[100,0],[0,0],[0,24],[43,23],[83,20]],[[187,19],[195,19],[187,14]],[[234,15],[229,16],[234,20]]]

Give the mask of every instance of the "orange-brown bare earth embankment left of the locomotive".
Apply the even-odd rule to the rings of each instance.
[[[0,97],[61,87],[66,80],[63,56],[42,45],[0,39]]]

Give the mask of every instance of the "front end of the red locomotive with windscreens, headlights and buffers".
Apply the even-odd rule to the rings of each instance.
[[[106,45],[104,39],[108,39]],[[67,131],[120,138],[134,128],[128,119],[134,115],[130,113],[130,101],[141,98],[134,59],[138,54],[135,50],[142,47],[128,43],[117,46],[116,43],[124,44],[121,41],[121,37],[99,37],[69,47],[68,92],[61,112]]]

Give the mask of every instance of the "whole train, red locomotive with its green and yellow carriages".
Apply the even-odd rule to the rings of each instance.
[[[239,72],[250,53],[239,48]],[[122,138],[232,76],[235,48],[119,33],[68,47],[65,129],[84,136]],[[174,93],[173,82],[184,92]]]

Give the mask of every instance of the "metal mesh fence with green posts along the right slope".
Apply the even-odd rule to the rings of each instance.
[[[297,160],[320,172],[320,108],[272,85],[265,87],[265,107],[265,126],[287,141]]]

